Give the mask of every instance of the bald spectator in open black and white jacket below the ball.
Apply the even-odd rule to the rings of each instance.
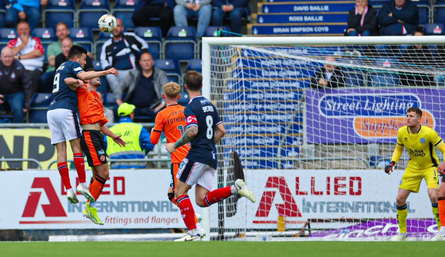
[[[113,38],[105,41],[101,52],[103,69],[114,68],[117,72],[106,76],[111,91],[117,83],[123,80],[136,64],[142,53],[148,52],[148,44],[134,33],[124,32],[122,20],[117,18],[117,26],[113,31]]]

